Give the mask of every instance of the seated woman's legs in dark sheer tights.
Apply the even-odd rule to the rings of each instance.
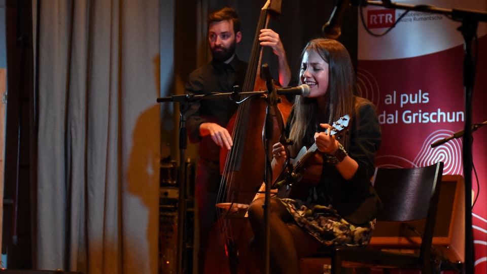
[[[264,258],[265,227],[264,199],[253,201],[249,208],[249,220],[254,232],[253,246]],[[279,200],[270,199],[270,271],[272,273],[298,274],[299,258],[315,253],[321,246],[318,240],[296,225],[291,214]],[[260,262],[261,264],[264,263]],[[262,265],[262,268],[263,265]]]

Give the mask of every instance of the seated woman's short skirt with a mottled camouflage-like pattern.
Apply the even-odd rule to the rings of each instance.
[[[356,226],[338,215],[332,205],[326,207],[293,199],[281,201],[298,225],[326,246],[360,246],[370,242],[375,219],[363,226]]]

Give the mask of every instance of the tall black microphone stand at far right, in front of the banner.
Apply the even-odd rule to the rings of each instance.
[[[461,21],[462,25],[458,28],[462,32],[465,42],[465,54],[463,63],[463,83],[465,94],[465,129],[463,137],[463,174],[465,179],[465,271],[473,273],[474,267],[474,247],[472,231],[472,93],[475,82],[476,51],[473,47],[473,40],[476,36],[478,22],[487,22],[487,13],[471,11],[465,9],[440,9],[428,5],[405,5],[396,4],[391,1],[370,1],[353,0],[354,5],[382,6],[389,9],[402,9],[408,11],[420,11],[434,14],[443,14]]]

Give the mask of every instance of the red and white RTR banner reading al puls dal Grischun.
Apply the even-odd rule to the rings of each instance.
[[[487,1],[397,1],[487,12]],[[362,18],[360,18],[362,17]],[[362,23],[363,19],[363,24]],[[394,26],[386,35],[376,37]],[[445,175],[463,176],[462,138],[431,144],[465,127],[464,39],[446,15],[359,8],[358,85],[377,106],[382,144],[377,166],[416,167],[442,161]],[[477,59],[472,121],[487,120],[487,23],[474,41]],[[473,135],[472,209],[475,273],[487,273],[487,126]],[[393,182],[391,182],[393,183]],[[469,191],[469,190],[468,190]],[[464,225],[464,223],[454,224]]]

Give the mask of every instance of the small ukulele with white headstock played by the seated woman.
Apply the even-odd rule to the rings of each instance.
[[[340,139],[341,133],[349,126],[350,116],[347,114],[340,117],[328,129],[330,135],[336,135]],[[283,172],[274,181],[273,188],[277,189],[277,196],[280,198],[300,197],[303,191],[307,193],[309,185],[318,184],[321,177],[323,159],[318,157],[316,142],[308,149],[302,147],[294,159],[289,159]],[[319,158],[318,160],[316,158]],[[304,178],[304,180],[303,180]]]

